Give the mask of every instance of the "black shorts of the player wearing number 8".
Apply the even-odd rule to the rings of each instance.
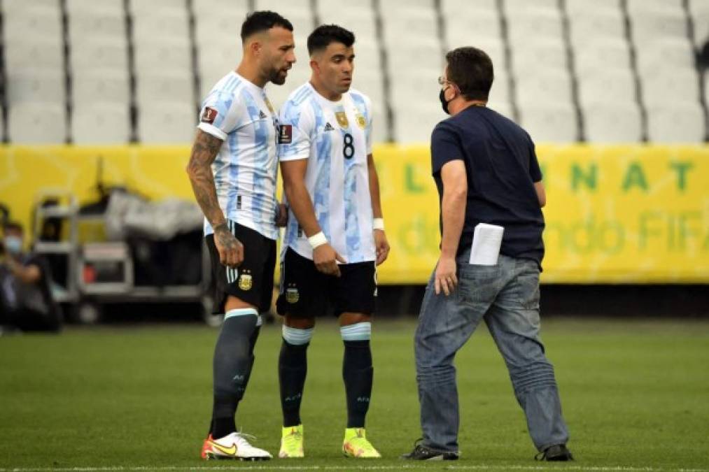
[[[279,315],[315,318],[331,309],[342,313],[372,315],[376,299],[374,261],[340,264],[341,276],[328,276],[315,263],[290,247],[281,262],[281,291],[276,302]]]

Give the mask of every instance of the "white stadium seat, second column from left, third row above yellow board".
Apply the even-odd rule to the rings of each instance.
[[[128,72],[128,43],[125,39],[72,43],[69,47],[72,70],[121,69]]]

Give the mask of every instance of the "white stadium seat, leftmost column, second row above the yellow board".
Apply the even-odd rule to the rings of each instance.
[[[6,72],[6,94],[10,104],[45,102],[65,105],[65,76],[57,69],[13,69]]]

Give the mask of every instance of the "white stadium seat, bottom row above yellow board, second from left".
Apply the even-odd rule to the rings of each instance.
[[[77,145],[123,144],[130,140],[127,103],[80,103],[72,110],[72,141]]]

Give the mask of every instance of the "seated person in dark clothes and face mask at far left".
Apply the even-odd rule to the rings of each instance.
[[[50,292],[45,260],[24,253],[23,230],[5,223],[0,242],[0,326],[22,331],[59,331],[62,315]]]

